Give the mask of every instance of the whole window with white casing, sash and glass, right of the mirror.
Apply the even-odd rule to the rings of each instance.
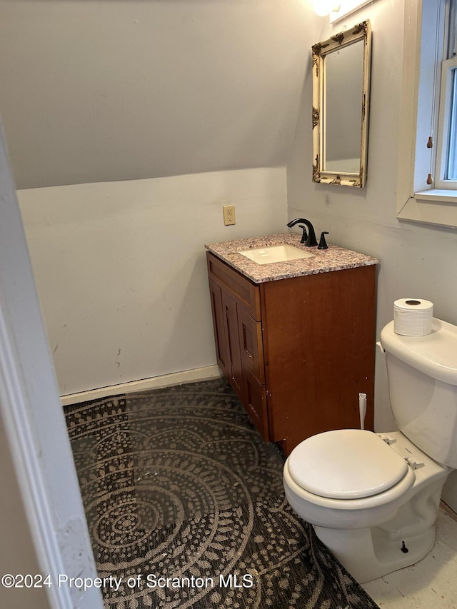
[[[457,227],[456,4],[457,0],[405,3],[397,195],[397,218],[454,227]]]

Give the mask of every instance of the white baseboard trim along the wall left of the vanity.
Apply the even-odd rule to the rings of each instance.
[[[79,393],[68,393],[66,396],[61,396],[60,401],[62,406],[69,404],[77,404],[79,402],[88,402],[107,398],[109,396],[117,396],[119,393],[131,393],[132,391],[145,391],[146,389],[159,389],[161,387],[170,387],[172,385],[182,385],[183,383],[194,383],[196,381],[208,381],[210,378],[221,376],[221,371],[218,366],[204,366],[204,368],[193,368],[192,370],[184,370],[162,376],[153,376],[151,378],[141,378],[139,381],[129,381],[129,383],[121,383],[119,385],[109,385],[97,389],[89,389],[89,391],[81,391]]]

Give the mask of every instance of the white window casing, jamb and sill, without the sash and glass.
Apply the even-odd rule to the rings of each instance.
[[[446,0],[405,2],[397,218],[457,228],[457,191],[437,188],[443,185],[439,180],[427,183],[438,144],[445,5]],[[427,148],[430,136],[433,147]]]

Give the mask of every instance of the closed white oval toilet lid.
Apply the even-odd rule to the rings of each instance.
[[[388,490],[408,465],[376,433],[338,429],[311,436],[288,457],[291,478],[314,495],[355,499]]]

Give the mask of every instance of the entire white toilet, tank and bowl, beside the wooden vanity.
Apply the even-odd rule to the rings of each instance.
[[[421,560],[435,543],[441,490],[457,468],[457,326],[381,331],[399,431],[338,429],[293,449],[283,470],[291,508],[359,582]]]

